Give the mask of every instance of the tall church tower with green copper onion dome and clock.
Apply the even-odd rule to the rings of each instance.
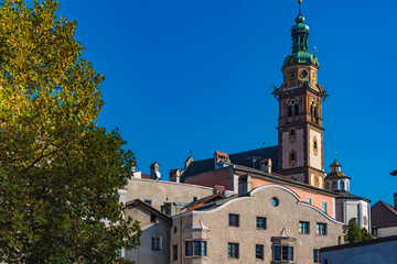
[[[283,62],[279,99],[278,173],[324,188],[322,102],[319,62],[308,52],[309,26],[299,14],[291,29],[292,51]]]

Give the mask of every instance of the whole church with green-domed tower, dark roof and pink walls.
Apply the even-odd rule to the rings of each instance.
[[[281,184],[336,220],[348,224],[357,218],[369,230],[369,200],[350,194],[350,178],[336,172],[340,166],[331,165],[329,176],[324,169],[322,103],[328,92],[318,82],[320,65],[309,53],[309,26],[301,9],[291,37],[291,54],[281,67],[283,82],[272,91],[279,101],[278,145],[236,154],[215,151],[213,158],[202,161],[190,156],[184,168],[173,169],[170,178],[211,188],[224,186],[235,194]]]

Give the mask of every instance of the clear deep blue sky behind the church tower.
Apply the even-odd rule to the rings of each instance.
[[[119,128],[138,170],[277,144],[281,64],[297,0],[61,0],[83,56],[106,80],[99,124]],[[334,152],[351,193],[393,204],[397,193],[397,2],[304,0],[316,46],[324,166]]]

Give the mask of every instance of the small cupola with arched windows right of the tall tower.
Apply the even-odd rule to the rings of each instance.
[[[342,165],[334,162],[330,165],[331,172],[325,176],[325,189],[333,191],[350,190],[350,177],[342,173]]]

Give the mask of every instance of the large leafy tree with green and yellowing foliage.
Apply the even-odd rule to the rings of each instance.
[[[135,158],[94,124],[104,77],[57,7],[0,7],[0,262],[121,263],[139,244],[116,197]]]

